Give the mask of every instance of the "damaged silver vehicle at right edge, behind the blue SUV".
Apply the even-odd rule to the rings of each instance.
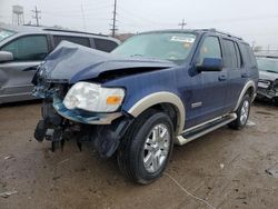
[[[257,56],[259,82],[257,98],[269,100],[278,106],[278,54]]]

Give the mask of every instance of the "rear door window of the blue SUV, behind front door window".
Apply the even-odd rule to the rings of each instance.
[[[225,57],[224,57],[225,67],[234,69],[238,68],[237,51],[234,41],[224,39],[224,51],[225,51]]]

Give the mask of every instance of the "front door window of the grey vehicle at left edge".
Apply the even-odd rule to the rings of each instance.
[[[21,37],[8,44],[1,51],[10,51],[14,61],[40,61],[48,54],[46,36]]]

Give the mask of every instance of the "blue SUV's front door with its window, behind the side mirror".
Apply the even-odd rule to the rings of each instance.
[[[222,50],[218,37],[206,36],[197,52],[195,62],[201,64],[205,58],[222,59]],[[227,70],[202,71],[192,76],[198,81],[192,88],[192,99],[189,101],[187,112],[195,112],[189,116],[187,128],[214,119],[225,113],[225,100],[227,90]]]

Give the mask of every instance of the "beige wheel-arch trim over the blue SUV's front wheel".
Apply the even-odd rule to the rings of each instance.
[[[183,130],[185,122],[186,122],[186,108],[181,101],[181,99],[168,91],[160,91],[156,93],[148,94],[147,97],[142,98],[138,102],[136,102],[129,110],[128,113],[130,113],[133,117],[138,117],[140,113],[142,113],[148,108],[159,104],[159,103],[171,103],[173,104],[176,111],[177,111],[177,135],[180,135]]]

